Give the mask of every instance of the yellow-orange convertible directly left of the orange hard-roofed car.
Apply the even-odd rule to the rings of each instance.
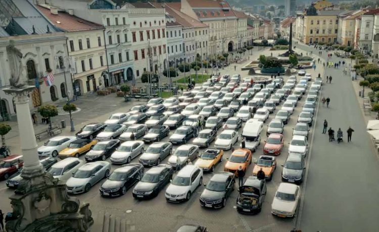
[[[207,149],[196,161],[195,165],[204,171],[214,171],[214,166],[222,161],[224,151],[221,149]]]

